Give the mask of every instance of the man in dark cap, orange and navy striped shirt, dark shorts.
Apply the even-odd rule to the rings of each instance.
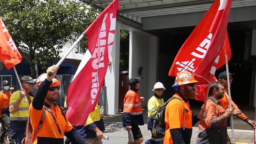
[[[129,80],[130,90],[124,97],[124,115],[122,118],[122,125],[128,131],[132,131],[136,144],[143,142],[143,136],[139,129],[139,126],[144,125],[141,102],[144,102],[145,99],[140,97],[138,92],[141,79],[141,77],[133,77]],[[132,144],[132,142],[128,141],[128,144]]]

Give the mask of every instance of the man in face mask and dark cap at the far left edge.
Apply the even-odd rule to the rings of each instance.
[[[0,144],[4,142],[4,137],[7,133],[10,144],[14,144],[14,140],[10,136],[10,112],[9,112],[9,102],[11,97],[10,83],[7,80],[2,82],[2,92],[0,93],[0,122],[2,123],[2,128],[0,131]]]

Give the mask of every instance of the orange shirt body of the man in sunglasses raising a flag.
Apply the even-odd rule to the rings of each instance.
[[[56,143],[59,142],[63,143],[64,133],[73,129],[72,125],[66,120],[61,112],[61,109],[58,105],[54,105],[54,108],[47,103],[45,104],[50,110],[53,111],[53,116],[55,116],[61,133],[58,131],[58,127],[56,126],[54,119],[52,118],[52,114],[46,110],[45,120],[43,121],[42,127],[39,129],[37,133],[37,138],[35,138],[35,142],[33,144],[37,144],[37,141],[40,141],[41,144],[48,144],[48,143]],[[42,110],[36,110],[33,108],[33,105],[30,105],[29,113],[31,118],[31,125],[33,128],[32,139],[35,135],[35,129],[37,129],[41,116],[43,114],[44,108]]]

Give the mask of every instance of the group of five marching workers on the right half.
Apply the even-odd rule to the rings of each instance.
[[[229,74],[230,84],[234,75]],[[139,128],[144,125],[141,108],[144,98],[140,97],[138,92],[141,79],[137,77],[129,80],[130,90],[124,98],[123,126],[128,130],[128,144],[143,142]],[[192,127],[198,121],[197,144],[231,144],[227,135],[227,126],[230,126],[232,115],[236,115],[255,129],[255,122],[243,114],[233,101],[232,107],[229,107],[226,71],[221,72],[217,80],[211,83],[206,105],[202,105],[200,112],[194,115],[188,100],[195,99],[197,82],[190,72],[178,73],[172,86],[176,93],[165,103],[161,96],[166,88],[161,82],[154,85],[152,91],[155,93],[148,100],[147,105],[147,124],[152,136],[145,144],[190,144]],[[162,120],[159,121],[159,118]],[[164,124],[158,124],[159,122]],[[158,132],[161,129],[163,133]]]

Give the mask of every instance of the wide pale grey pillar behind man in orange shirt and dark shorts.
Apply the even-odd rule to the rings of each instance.
[[[156,83],[157,49],[156,36],[130,31],[129,78],[139,76],[139,68],[143,67],[139,89],[140,96],[145,97],[143,107],[147,107],[147,100],[154,94],[152,87]]]

